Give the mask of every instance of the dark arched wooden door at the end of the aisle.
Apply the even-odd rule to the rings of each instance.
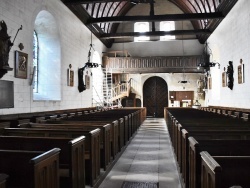
[[[164,117],[164,107],[168,106],[168,85],[164,79],[154,76],[143,85],[143,106],[147,116]]]

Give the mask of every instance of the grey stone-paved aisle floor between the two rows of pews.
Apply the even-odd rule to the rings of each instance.
[[[163,118],[147,118],[99,188],[181,188]]]

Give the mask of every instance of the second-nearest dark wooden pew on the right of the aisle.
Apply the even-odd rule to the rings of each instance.
[[[201,187],[201,155],[250,156],[250,140],[196,140],[189,137],[189,187]]]

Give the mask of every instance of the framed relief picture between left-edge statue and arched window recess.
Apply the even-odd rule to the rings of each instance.
[[[15,51],[15,77],[27,78],[28,54]]]

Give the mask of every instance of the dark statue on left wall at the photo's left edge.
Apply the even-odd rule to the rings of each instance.
[[[22,26],[18,29],[16,36],[19,30],[22,30]],[[4,74],[6,74],[8,71],[13,70],[13,68],[9,66],[8,61],[9,61],[9,52],[14,44],[16,36],[13,42],[11,42],[10,36],[7,33],[6,23],[3,20],[0,21],[0,78],[2,78]]]

